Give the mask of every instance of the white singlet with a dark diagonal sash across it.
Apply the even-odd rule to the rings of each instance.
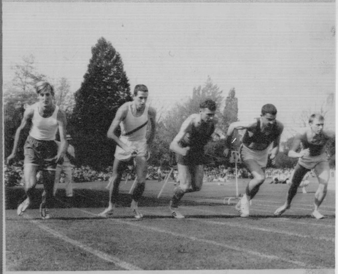
[[[143,125],[148,120],[148,108],[149,108],[148,105],[146,105],[145,110],[141,116],[135,117],[131,113],[131,104],[132,102],[130,102],[129,104],[126,118],[120,123],[122,130],[121,136],[139,127],[140,125]],[[123,136],[123,138],[127,139],[128,141],[146,140],[146,134],[147,134],[147,125],[131,133],[130,135]]]

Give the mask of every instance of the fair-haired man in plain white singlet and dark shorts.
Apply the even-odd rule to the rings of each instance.
[[[54,89],[47,82],[36,84],[39,101],[27,107],[20,126],[15,133],[14,145],[11,155],[7,157],[9,164],[15,157],[21,131],[30,121],[32,127],[24,144],[23,177],[25,182],[25,199],[19,204],[17,214],[21,216],[32,203],[33,191],[37,183],[36,175],[42,169],[44,191],[40,204],[42,219],[49,219],[50,201],[53,197],[55,167],[63,160],[67,150],[66,141],[66,115],[53,104]],[[55,134],[59,129],[61,145],[54,142]]]

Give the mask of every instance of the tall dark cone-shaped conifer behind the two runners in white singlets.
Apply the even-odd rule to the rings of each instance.
[[[94,168],[111,165],[115,144],[107,140],[107,130],[118,108],[131,99],[120,54],[100,38],[92,47],[87,73],[75,93],[70,121],[79,164]]]

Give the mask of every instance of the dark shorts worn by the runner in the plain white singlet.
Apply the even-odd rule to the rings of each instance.
[[[29,135],[23,149],[24,164],[38,165],[42,169],[48,170],[53,170],[57,167],[57,163],[53,158],[58,154],[58,145],[54,141],[37,140]]]

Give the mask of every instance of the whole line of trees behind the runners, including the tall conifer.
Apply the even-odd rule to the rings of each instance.
[[[104,38],[100,38],[92,47],[92,58],[80,88],[70,91],[66,78],[50,79],[36,70],[34,56],[25,56],[22,63],[13,66],[15,72],[11,83],[5,85],[4,100],[4,138],[5,157],[12,150],[15,130],[19,126],[26,105],[37,101],[34,84],[38,81],[54,83],[55,104],[67,115],[67,132],[73,137],[72,144],[76,150],[76,165],[88,165],[102,170],[112,165],[116,144],[107,139],[106,132],[114,119],[118,108],[126,101],[132,100],[129,80],[124,71],[121,55]],[[332,95],[330,95],[332,96]],[[180,129],[182,122],[191,114],[199,112],[200,102],[211,98],[216,102],[218,119],[212,140],[206,145],[205,153],[209,165],[229,163],[223,157],[224,139],[229,125],[238,121],[238,98],[232,88],[224,98],[223,91],[213,84],[210,76],[203,86],[194,87],[192,95],[183,102],[177,103],[157,121],[157,132],[152,145],[151,165],[169,166],[174,164],[174,155],[169,150],[170,143]],[[327,109],[323,109],[323,114]],[[304,117],[305,112],[302,114]],[[19,157],[23,159],[23,143],[29,133],[29,126],[20,139]],[[241,134],[236,131],[232,149],[240,146]],[[119,132],[117,132],[119,134]],[[292,138],[281,143],[276,167],[293,167],[297,159],[287,156]],[[330,164],[335,165],[335,142],[328,145]]]

